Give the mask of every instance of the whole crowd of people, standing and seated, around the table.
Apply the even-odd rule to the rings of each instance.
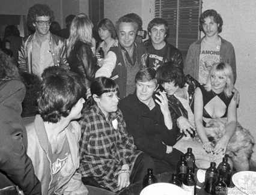
[[[148,168],[175,170],[187,148],[198,168],[226,156],[232,169],[250,169],[254,138],[237,122],[234,47],[219,36],[223,21],[215,10],[201,14],[205,36],[184,62],[166,40],[168,22],[157,17],[143,42],[135,13],[115,25],[100,20],[100,43],[84,13],[68,16],[61,30],[53,11],[35,4],[27,23],[33,34],[4,38],[5,48],[15,46],[14,58],[0,49],[0,189],[115,194]],[[26,127],[24,98],[33,115],[37,107]]]

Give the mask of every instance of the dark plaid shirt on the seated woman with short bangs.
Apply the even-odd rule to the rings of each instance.
[[[117,191],[121,166],[129,164],[132,170],[136,158],[141,154],[136,150],[133,137],[126,131],[121,110],[109,113],[105,118],[94,104],[84,112],[79,123],[82,133],[79,172],[84,177],[93,177],[103,187]]]

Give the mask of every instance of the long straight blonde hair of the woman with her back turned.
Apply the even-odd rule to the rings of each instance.
[[[67,56],[70,55],[76,41],[91,44],[93,38],[93,23],[86,14],[80,13],[76,16],[70,26],[69,45],[67,46]]]

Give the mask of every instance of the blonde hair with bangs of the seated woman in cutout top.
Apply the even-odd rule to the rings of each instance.
[[[219,62],[218,64],[213,65],[207,77],[206,85],[204,85],[204,88],[206,88],[206,91],[212,90],[211,77],[212,75],[215,76],[216,74],[224,75],[225,77],[227,77],[227,83],[224,88],[224,93],[225,95],[227,95],[227,97],[230,97],[234,88],[234,74],[231,66],[228,63]]]

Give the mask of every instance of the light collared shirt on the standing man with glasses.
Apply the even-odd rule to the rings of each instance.
[[[35,32],[36,33],[36,32]],[[52,51],[50,50],[50,33],[48,32],[47,38],[40,45],[37,43],[37,35],[33,40],[33,55],[32,55],[32,72],[41,77],[44,69],[54,65],[52,59]]]

